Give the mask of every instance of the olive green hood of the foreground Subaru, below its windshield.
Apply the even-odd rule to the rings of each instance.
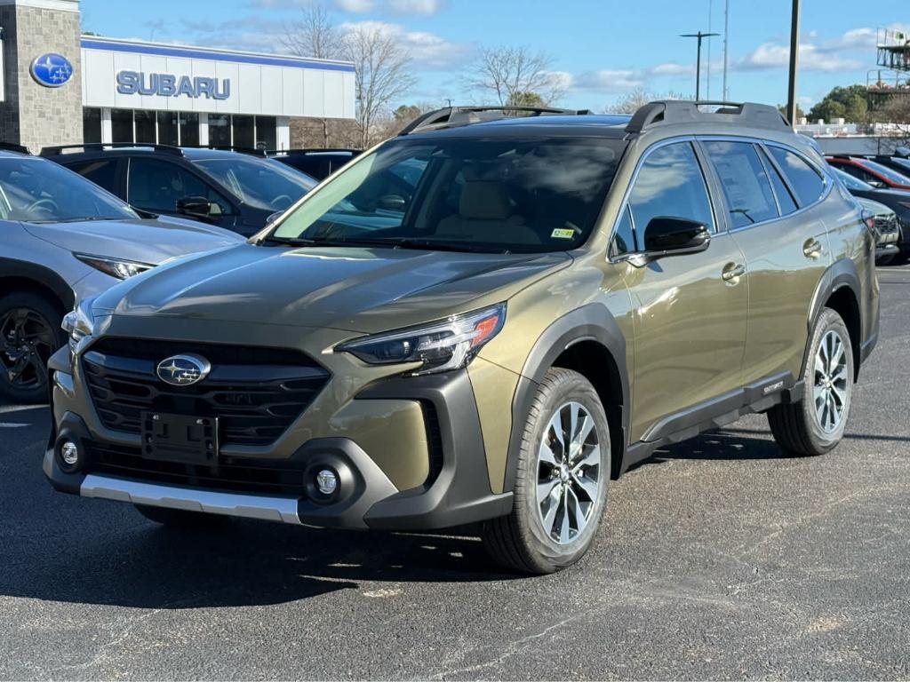
[[[370,333],[505,300],[566,253],[477,254],[244,244],[128,279],[96,315],[180,316]]]

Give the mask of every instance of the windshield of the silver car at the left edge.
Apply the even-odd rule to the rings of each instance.
[[[136,217],[116,196],[53,161],[0,159],[0,220],[61,223]]]

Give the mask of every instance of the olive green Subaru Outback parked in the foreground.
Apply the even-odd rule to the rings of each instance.
[[[750,412],[836,446],[875,234],[813,144],[764,105],[522,113],[422,116],[248,243],[83,301],[53,486],[165,524],[479,523],[547,573],[655,448]]]

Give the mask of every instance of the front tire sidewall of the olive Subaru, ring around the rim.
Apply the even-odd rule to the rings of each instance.
[[[591,520],[579,537],[566,545],[553,541],[543,528],[537,504],[538,450],[556,409],[565,403],[577,402],[585,408],[594,420],[598,440],[601,444],[601,466],[599,472],[599,494],[591,511]],[[551,569],[567,567],[578,561],[597,533],[607,502],[607,488],[611,473],[610,426],[603,411],[600,397],[583,376],[565,370],[554,386],[541,386],[535,397],[536,414],[529,417],[526,427],[521,458],[519,480],[516,482],[515,504],[522,535],[530,540],[531,548]]]

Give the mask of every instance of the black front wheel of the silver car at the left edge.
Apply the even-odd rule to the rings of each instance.
[[[62,318],[54,302],[34,292],[0,298],[0,396],[47,402],[47,360],[66,344]]]

